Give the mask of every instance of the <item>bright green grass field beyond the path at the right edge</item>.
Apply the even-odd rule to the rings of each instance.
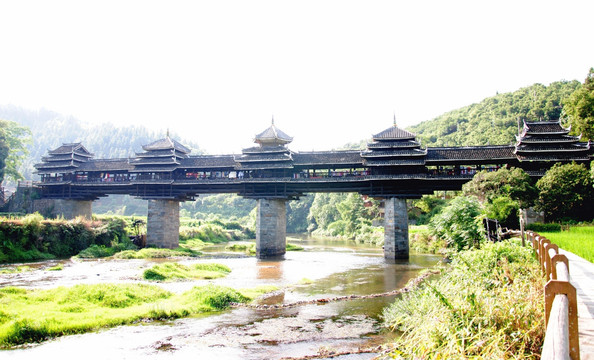
[[[594,226],[572,226],[569,230],[561,232],[540,232],[539,234],[559,245],[563,250],[594,263]]]

